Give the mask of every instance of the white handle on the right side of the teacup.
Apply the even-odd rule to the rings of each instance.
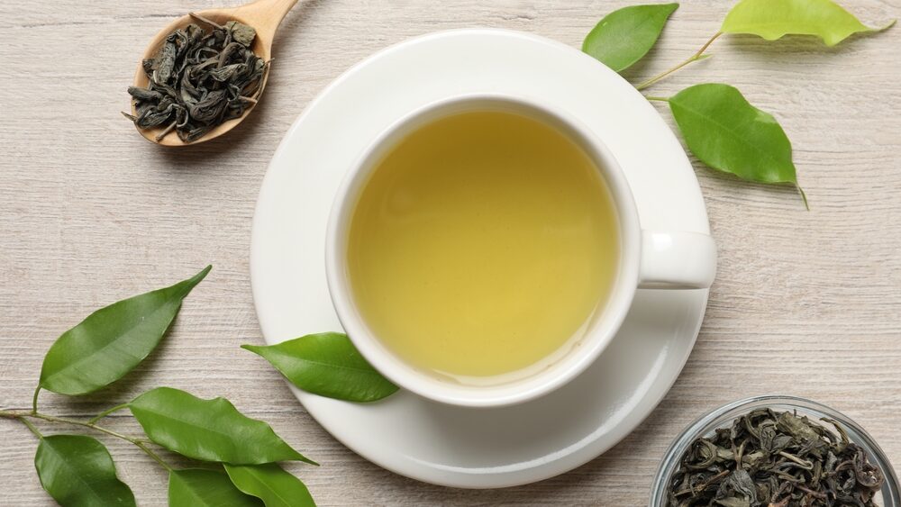
[[[716,275],[716,244],[700,232],[642,231],[642,289],[705,289]]]

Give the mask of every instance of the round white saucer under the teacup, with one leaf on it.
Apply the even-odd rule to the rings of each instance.
[[[278,147],[259,193],[250,270],[270,344],[341,330],[324,273],[332,197],[369,140],[452,94],[540,95],[596,131],[619,160],[642,226],[709,232],[695,173],[642,95],[578,50],[519,32],[438,32],[378,52],[309,104]],[[596,364],[559,391],[501,409],[461,409],[400,392],[339,402],[295,389],[316,421],[360,456],[424,482],[531,483],[605,452],[660,402],[694,346],[707,291],[639,291]]]

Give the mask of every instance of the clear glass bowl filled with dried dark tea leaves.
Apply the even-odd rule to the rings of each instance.
[[[899,507],[885,453],[841,412],[759,396],[706,414],[673,442],[651,507]]]

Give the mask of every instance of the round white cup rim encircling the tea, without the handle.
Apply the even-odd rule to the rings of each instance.
[[[620,235],[618,273],[608,301],[594,317],[582,342],[563,358],[541,372],[509,384],[468,386],[442,382],[434,376],[416,370],[402,358],[382,345],[374,336],[352,302],[346,273],[346,241],[350,218],[356,208],[359,193],[366,186],[378,162],[396,147],[398,138],[430,122],[451,116],[454,112],[484,111],[492,104],[495,110],[522,112],[540,121],[551,122],[570,140],[576,142],[592,159],[614,202]],[[529,116],[529,113],[523,115]],[[381,131],[363,149],[341,182],[332,202],[332,210],[325,240],[325,273],[332,304],[354,346],[375,367],[396,385],[439,403],[466,407],[498,407],[523,403],[548,394],[566,385],[590,366],[613,340],[632,305],[639,280],[642,255],[641,226],[632,190],[622,167],[603,141],[569,113],[535,97],[506,93],[467,93],[451,95],[424,104],[407,113]]]

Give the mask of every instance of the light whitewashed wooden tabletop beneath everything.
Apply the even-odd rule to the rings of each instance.
[[[322,463],[290,469],[323,505],[646,504],[679,430],[715,406],[765,393],[849,414],[901,466],[901,29],[832,49],[807,38],[727,36],[714,43],[713,59],[653,88],[668,95],[727,82],[775,114],[811,211],[789,189],[696,163],[720,264],[704,327],[672,391],[586,466],[539,484],[464,491],[394,475],[343,448],[274,370],[238,349],[262,341],[248,267],[261,178],[296,115],[373,51],[470,26],[578,47],[603,14],[630,3],[301,0],[278,31],[265,97],[238,129],[187,149],[141,139],[119,111],[129,106],[125,87],[142,51],[178,16],[223,4],[239,2],[0,2],[0,406],[28,406],[44,352],[88,312],[213,263],[138,371],[96,396],[43,394],[43,410],[88,415],[104,400],[120,403],[156,385],[226,395]],[[649,77],[687,58],[731,4],[686,2],[651,58],[626,76]],[[842,5],[870,25],[901,17],[901,0]],[[365,109],[369,97],[359,100]],[[137,429],[124,415],[110,424]],[[163,471],[129,444],[105,441],[141,505],[164,505]],[[22,425],[0,421],[0,505],[52,504],[34,472],[35,445]]]

